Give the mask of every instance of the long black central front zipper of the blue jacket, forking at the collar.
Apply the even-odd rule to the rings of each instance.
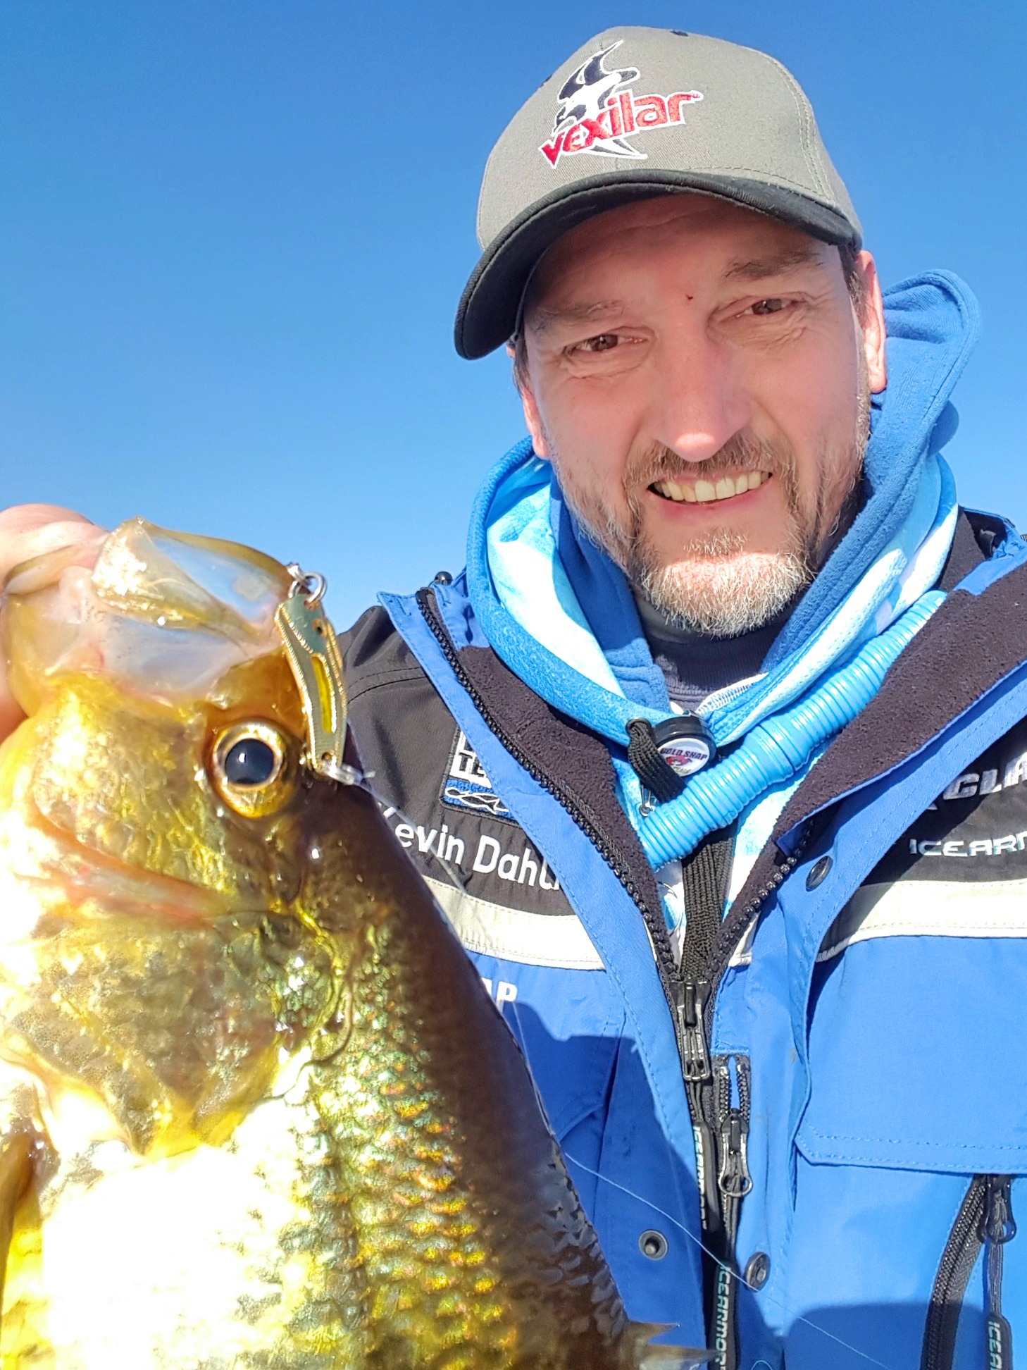
[[[735,1302],[738,1277],[735,1273],[734,1243],[738,1232],[738,1217],[741,1201],[752,1189],[749,1177],[746,1145],[749,1130],[749,1062],[748,1058],[734,1058],[744,1062],[738,1067],[739,1104],[727,1106],[728,1115],[718,1117],[718,1101],[713,1088],[713,1062],[709,1055],[712,1041],[713,1010],[716,993],[720,988],[731,951],[759,914],[764,900],[767,900],[794,870],[802,858],[807,845],[804,834],[791,855],[778,866],[774,875],[741,910],[731,910],[728,918],[720,929],[718,949],[709,974],[705,978],[693,981],[685,980],[678,971],[671,947],[670,934],[663,917],[663,910],[653,910],[645,900],[641,889],[635,884],[630,867],[622,860],[616,851],[607,843],[605,837],[592,823],[586,814],[581,811],[574,799],[549,777],[545,775],[534,762],[524,754],[516,738],[511,737],[496,719],[487,703],[468,678],[460,664],[456,647],[453,645],[445,626],[438,621],[431,593],[427,589],[418,590],[418,607],[427,623],[431,634],[438,643],[442,655],[451,670],[466,690],[474,707],[481,714],[489,730],[498,738],[514,760],[527,771],[557,803],[571,815],[585,836],[600,852],[605,863],[618,877],[626,892],[642,914],[649,940],[656,956],[656,967],[660,974],[667,1004],[675,1025],[678,1051],[681,1054],[685,1089],[692,1114],[692,1128],[696,1140],[696,1164],[698,1171],[700,1207],[702,1228],[707,1241],[716,1258],[716,1273],[711,1281],[711,1308],[708,1311],[708,1328],[718,1351],[716,1365],[719,1370],[737,1370],[737,1329],[735,1329]],[[727,1062],[728,1058],[718,1058]],[[745,1085],[742,1085],[742,1078]],[[742,1093],[744,1091],[744,1093]],[[727,1130],[723,1130],[724,1123]],[[723,1175],[723,1182],[722,1182]]]

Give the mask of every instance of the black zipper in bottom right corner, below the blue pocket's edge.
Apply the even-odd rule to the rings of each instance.
[[[969,1275],[985,1247],[989,1370],[1012,1370],[1012,1330],[1002,1317],[1002,1258],[1016,1236],[1011,1175],[974,1175],[945,1243],[927,1306],[920,1370],[953,1370],[956,1332]]]

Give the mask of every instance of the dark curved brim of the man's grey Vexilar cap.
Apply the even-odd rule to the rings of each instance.
[[[622,204],[682,190],[698,190],[744,204],[824,242],[860,245],[859,233],[844,214],[763,181],[653,170],[634,175],[624,171],[616,181],[611,181],[609,175],[575,181],[572,188],[555,190],[545,200],[535,201],[482,253],[456,311],[456,351],[475,360],[508,341],[516,329],[520,300],[535,263],[568,229]]]

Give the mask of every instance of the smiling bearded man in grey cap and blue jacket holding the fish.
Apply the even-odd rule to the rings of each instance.
[[[975,303],[882,300],[794,79],[676,32],[568,58],[479,234],[456,344],[508,344],[530,441],[467,570],[346,637],[370,784],[634,1318],[730,1367],[1011,1365],[1027,548],[939,455]],[[93,536],[55,515],[5,562]]]

